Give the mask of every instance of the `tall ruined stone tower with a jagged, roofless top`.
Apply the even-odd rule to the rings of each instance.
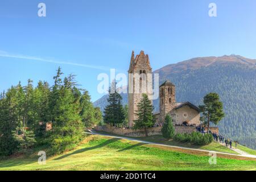
[[[134,58],[134,51],[131,53],[131,61],[129,68],[129,96],[128,96],[128,120],[129,127],[133,127],[133,122],[138,117],[135,114],[137,111],[137,104],[142,99],[142,94],[146,93],[148,98],[152,101],[152,68],[148,55],[141,51],[139,55]],[[148,73],[150,73],[148,75]]]

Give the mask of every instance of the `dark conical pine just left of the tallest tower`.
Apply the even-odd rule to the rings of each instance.
[[[125,110],[121,104],[122,97],[117,92],[116,82],[113,81],[109,88],[108,104],[104,110],[104,122],[110,125],[118,125],[125,121]]]

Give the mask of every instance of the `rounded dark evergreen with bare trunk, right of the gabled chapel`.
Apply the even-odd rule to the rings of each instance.
[[[208,132],[210,129],[210,122],[217,125],[217,123],[225,116],[223,104],[220,101],[220,97],[217,93],[208,93],[206,96],[204,96],[204,105],[200,105],[199,108],[203,114],[200,119],[201,121],[207,123]]]

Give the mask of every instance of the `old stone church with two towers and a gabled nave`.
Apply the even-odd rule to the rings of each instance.
[[[148,98],[152,101],[152,76],[148,78],[152,73],[150,66],[150,60],[148,55],[144,55],[141,51],[139,55],[134,58],[134,52],[131,55],[130,68],[128,73],[135,73],[139,75],[139,81],[136,82],[136,78],[129,75],[129,127],[133,127],[134,120],[137,119],[136,110],[137,104],[142,99],[142,93],[146,93]],[[143,84],[143,80],[145,84]],[[135,92],[135,86],[139,83],[139,93]],[[144,87],[144,88],[143,88]],[[130,93],[130,90],[133,90]],[[142,92],[142,90],[144,92]],[[175,97],[175,85],[170,81],[164,81],[159,86],[159,113],[155,114],[156,125],[161,126],[164,123],[164,118],[167,114],[170,114],[174,120],[174,125],[185,126],[199,126],[200,125],[200,111],[199,107],[191,104],[190,102],[178,103]]]

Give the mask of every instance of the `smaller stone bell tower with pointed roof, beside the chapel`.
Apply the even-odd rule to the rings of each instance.
[[[176,100],[175,100],[175,85],[170,81],[165,81],[162,85],[159,86],[159,104],[160,104],[160,122],[164,123],[164,118],[166,114],[174,109]]]

